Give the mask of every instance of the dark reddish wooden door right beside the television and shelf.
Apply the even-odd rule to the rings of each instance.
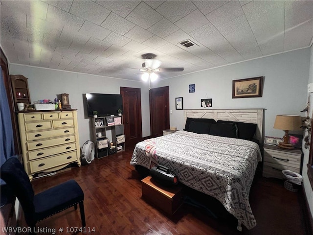
[[[123,96],[123,123],[125,145],[133,146],[142,141],[140,88],[121,87]]]

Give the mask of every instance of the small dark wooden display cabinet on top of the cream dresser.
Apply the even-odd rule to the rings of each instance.
[[[28,90],[27,77],[23,75],[10,75],[13,96],[14,96],[14,107],[18,110],[17,103],[30,104],[30,95]]]

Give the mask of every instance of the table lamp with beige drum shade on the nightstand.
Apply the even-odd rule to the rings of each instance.
[[[281,148],[293,149],[293,145],[289,142],[289,131],[300,131],[302,128],[301,117],[299,115],[276,115],[274,128],[284,130],[284,142],[278,144]]]

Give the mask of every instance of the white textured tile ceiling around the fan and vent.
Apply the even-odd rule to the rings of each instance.
[[[144,53],[160,78],[310,47],[313,1],[1,0],[10,63],[139,80]],[[189,39],[196,46],[179,42]]]

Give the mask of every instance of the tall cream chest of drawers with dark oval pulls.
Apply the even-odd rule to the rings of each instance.
[[[51,172],[76,162],[80,147],[77,111],[19,112],[23,164],[29,179],[40,172]]]

